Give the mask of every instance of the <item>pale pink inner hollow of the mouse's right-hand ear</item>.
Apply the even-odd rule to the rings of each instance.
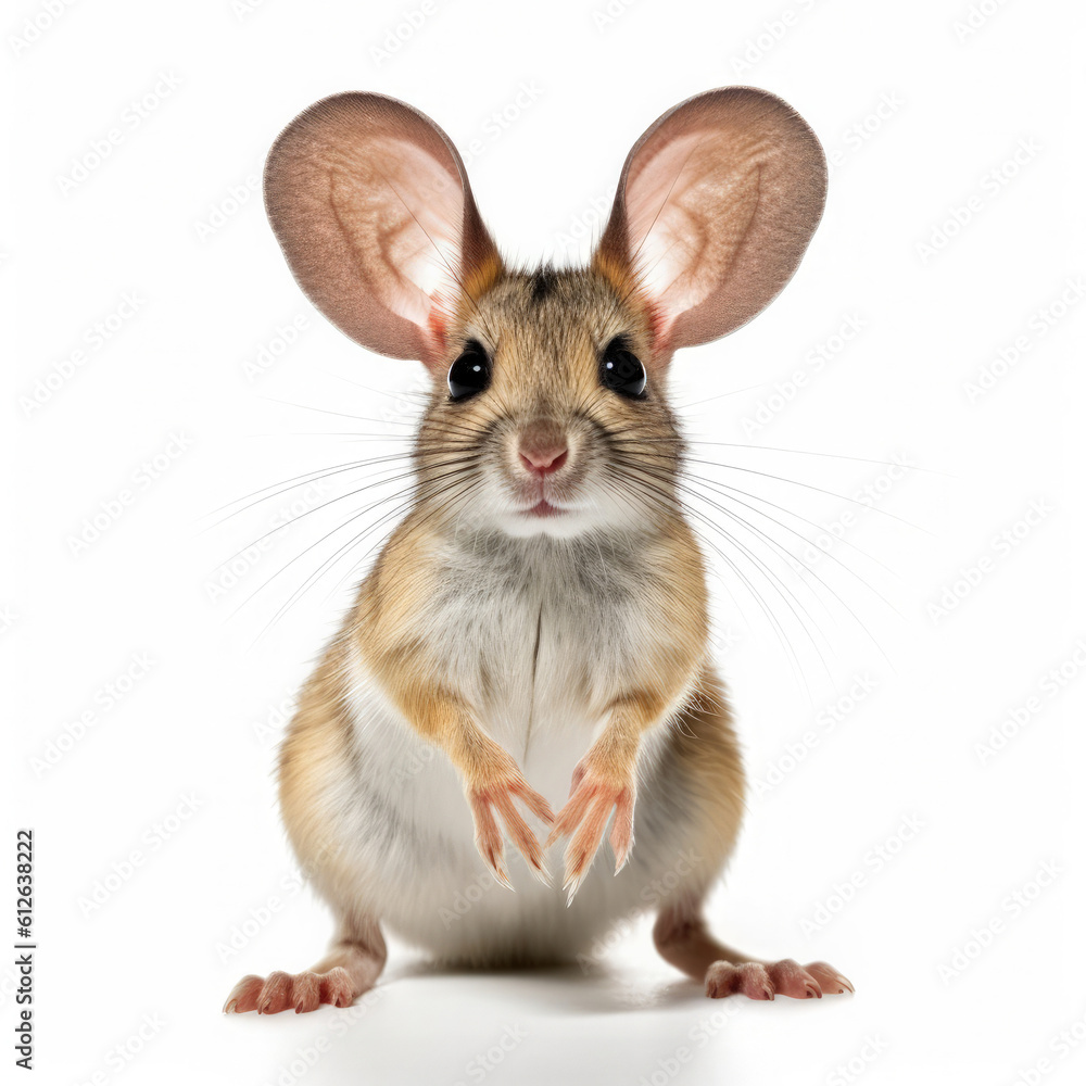
[[[734,131],[684,132],[646,155],[627,182],[634,268],[664,339],[680,314],[721,286],[754,217],[758,167],[737,142]]]

